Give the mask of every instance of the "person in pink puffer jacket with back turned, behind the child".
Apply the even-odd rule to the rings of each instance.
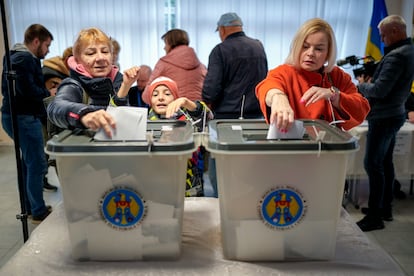
[[[162,35],[165,53],[155,64],[148,80],[165,76],[173,79],[178,85],[178,96],[192,101],[201,100],[201,89],[207,69],[198,59],[193,48],[189,47],[190,39],[184,30],[172,29]],[[146,88],[142,99],[150,103],[150,92]]]

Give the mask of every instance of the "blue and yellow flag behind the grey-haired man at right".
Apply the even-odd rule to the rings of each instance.
[[[374,0],[371,23],[369,24],[367,47],[365,55],[371,56],[375,60],[380,60],[384,54],[384,44],[378,30],[379,22],[388,16],[385,0]]]

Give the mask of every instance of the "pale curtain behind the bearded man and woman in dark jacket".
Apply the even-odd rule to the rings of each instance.
[[[7,4],[11,45],[23,42],[30,24],[40,23],[54,37],[46,58],[62,55],[81,29],[92,26],[121,45],[121,70],[144,63],[153,66],[165,54],[164,1],[7,0]]]

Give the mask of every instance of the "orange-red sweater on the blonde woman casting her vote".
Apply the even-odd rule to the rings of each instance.
[[[349,74],[339,67],[334,67],[330,82],[328,74],[309,72],[296,69],[292,65],[283,64],[270,70],[267,77],[256,86],[256,97],[260,103],[260,109],[264,117],[269,121],[270,108],[266,106],[266,94],[271,88],[276,88],[288,96],[290,106],[295,112],[295,119],[322,119],[332,122],[331,107],[329,101],[318,101],[309,106],[300,102],[302,95],[312,86],[330,88],[335,86],[341,92],[340,106],[341,116],[335,108],[335,120],[344,120],[339,124],[345,130],[361,124],[367,116],[370,106],[368,100],[358,93],[357,87],[352,82]]]

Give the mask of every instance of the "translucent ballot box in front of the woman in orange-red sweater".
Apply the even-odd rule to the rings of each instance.
[[[347,159],[357,139],[319,120],[267,139],[264,120],[214,120],[223,253],[242,261],[334,258]]]

